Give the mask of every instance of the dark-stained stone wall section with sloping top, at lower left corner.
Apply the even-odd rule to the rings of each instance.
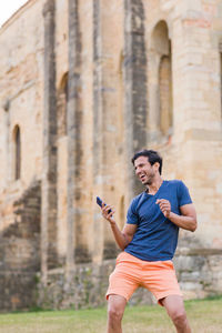
[[[40,270],[40,182],[13,204],[13,223],[0,232],[0,311],[36,304],[36,273]]]

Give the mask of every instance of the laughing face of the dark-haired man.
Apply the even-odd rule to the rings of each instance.
[[[151,185],[157,173],[157,164],[150,164],[147,157],[140,157],[134,161],[134,170],[143,185]]]

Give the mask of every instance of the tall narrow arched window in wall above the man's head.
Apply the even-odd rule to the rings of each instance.
[[[172,56],[168,24],[159,21],[151,37],[150,82],[151,121],[157,135],[172,133]],[[157,137],[154,135],[154,137]]]

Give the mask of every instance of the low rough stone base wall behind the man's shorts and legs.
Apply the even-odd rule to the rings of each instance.
[[[184,300],[202,299],[222,294],[222,251],[209,249],[181,249],[174,258],[174,268]],[[43,309],[82,309],[107,304],[105,292],[109,275],[115,260],[105,260],[100,265],[78,264],[65,278],[62,269],[49,272],[48,285],[37,285],[37,304]],[[129,304],[155,304],[145,289],[138,289]]]

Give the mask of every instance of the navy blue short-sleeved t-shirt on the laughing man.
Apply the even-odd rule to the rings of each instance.
[[[171,260],[178,245],[179,228],[161,212],[158,199],[169,200],[171,211],[179,215],[180,206],[192,203],[180,180],[163,181],[154,195],[143,192],[132,200],[127,223],[138,224],[138,229],[124,251],[147,261]]]

